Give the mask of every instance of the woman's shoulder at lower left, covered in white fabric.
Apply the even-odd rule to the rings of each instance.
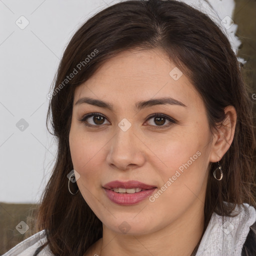
[[[36,249],[43,245],[47,241],[45,230],[41,230],[32,236],[26,238],[2,256],[33,256]],[[54,256],[49,252],[47,246],[44,247],[38,254],[38,256]]]

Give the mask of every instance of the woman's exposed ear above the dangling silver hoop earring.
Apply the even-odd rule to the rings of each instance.
[[[214,133],[211,144],[210,162],[219,161],[230,147],[236,124],[236,110],[229,105],[224,109],[225,119],[218,123],[217,131]]]

